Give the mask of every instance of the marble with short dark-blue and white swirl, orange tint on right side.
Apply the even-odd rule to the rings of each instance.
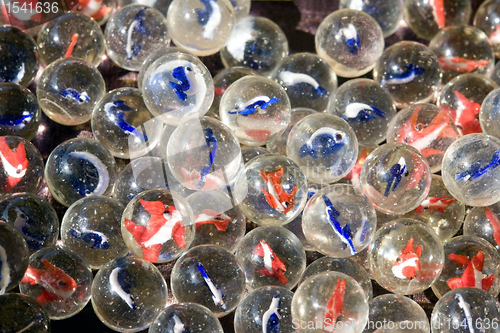
[[[361,168],[360,184],[378,210],[404,214],[417,208],[431,186],[429,164],[418,150],[404,143],[375,149]]]

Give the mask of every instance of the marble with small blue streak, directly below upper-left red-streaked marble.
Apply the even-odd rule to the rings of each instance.
[[[75,58],[51,63],[36,87],[43,112],[56,123],[66,126],[89,121],[94,106],[105,93],[101,73],[91,64]]]

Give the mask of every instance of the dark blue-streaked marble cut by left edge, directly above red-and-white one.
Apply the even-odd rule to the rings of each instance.
[[[21,136],[31,140],[38,130],[41,117],[40,105],[31,91],[15,83],[0,83],[0,135]]]

